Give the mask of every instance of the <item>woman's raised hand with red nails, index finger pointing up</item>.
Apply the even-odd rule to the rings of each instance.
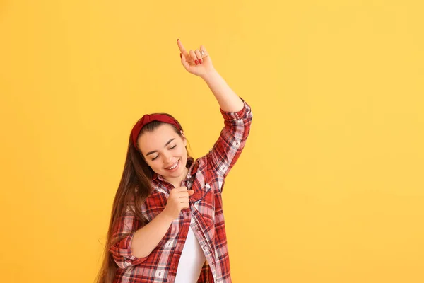
[[[181,40],[177,40],[177,45],[181,52],[180,57],[182,66],[184,66],[190,74],[202,77],[214,70],[211,57],[203,45],[200,45],[199,50],[190,50],[189,52],[185,50]]]

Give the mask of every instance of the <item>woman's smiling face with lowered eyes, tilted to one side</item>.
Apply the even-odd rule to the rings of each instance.
[[[153,132],[144,132],[137,141],[148,166],[164,178],[179,178],[185,172],[187,139],[182,134],[183,138],[174,127],[163,124]]]

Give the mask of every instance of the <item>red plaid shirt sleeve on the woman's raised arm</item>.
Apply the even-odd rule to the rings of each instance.
[[[209,168],[222,178],[225,178],[242,154],[252,123],[252,110],[240,98],[244,106],[238,112],[225,112],[220,108],[224,118],[224,128],[218,140],[206,155]]]

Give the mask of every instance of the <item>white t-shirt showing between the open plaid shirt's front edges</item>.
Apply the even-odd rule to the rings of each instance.
[[[191,224],[193,222],[192,217]],[[184,248],[182,248],[181,258],[179,258],[175,283],[196,283],[205,261],[204,252],[194,235],[192,226],[190,226]]]

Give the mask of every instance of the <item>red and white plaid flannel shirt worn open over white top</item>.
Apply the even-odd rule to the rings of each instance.
[[[141,225],[127,209],[126,215],[112,232],[114,237],[124,236],[110,248],[119,267],[114,277],[115,283],[175,282],[192,217],[192,229],[206,256],[197,282],[231,282],[221,192],[225,177],[242,153],[250,131],[252,112],[245,100],[243,103],[243,109],[238,112],[225,112],[220,108],[225,126],[218,141],[206,156],[196,161],[194,158],[187,159],[189,173],[181,185],[194,190],[189,200],[190,207],[182,209],[179,218],[172,222],[158,246],[146,258],[137,258],[131,253],[134,233]],[[142,206],[143,215],[148,221],[163,211],[170,190],[174,188],[156,173],[153,174],[152,185],[153,192]]]

